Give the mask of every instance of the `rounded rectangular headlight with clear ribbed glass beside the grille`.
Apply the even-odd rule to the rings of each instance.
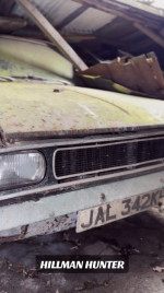
[[[0,189],[39,183],[45,173],[46,162],[39,152],[0,155]]]

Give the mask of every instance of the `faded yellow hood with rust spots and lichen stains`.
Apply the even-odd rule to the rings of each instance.
[[[164,125],[164,102],[43,83],[0,83],[0,127],[8,137],[103,133]]]

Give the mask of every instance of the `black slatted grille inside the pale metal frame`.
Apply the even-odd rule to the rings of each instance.
[[[164,138],[57,150],[55,173],[58,178],[121,168],[164,157]]]

